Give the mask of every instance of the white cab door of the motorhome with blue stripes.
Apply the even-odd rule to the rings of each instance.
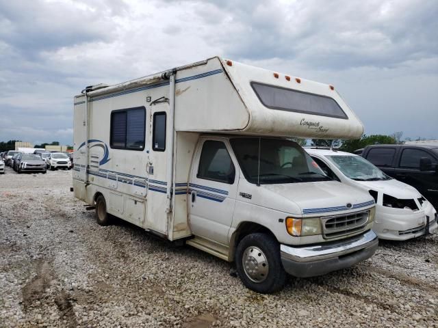
[[[224,138],[201,139],[189,183],[192,234],[227,245],[233,220],[237,162]]]

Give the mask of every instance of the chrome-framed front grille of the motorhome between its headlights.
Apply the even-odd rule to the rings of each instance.
[[[336,238],[361,232],[365,229],[370,211],[322,217],[322,233],[324,238]]]

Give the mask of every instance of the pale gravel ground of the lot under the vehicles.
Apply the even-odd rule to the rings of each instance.
[[[214,256],[98,226],[70,185],[0,176],[0,327],[438,327],[437,234],[259,295]]]

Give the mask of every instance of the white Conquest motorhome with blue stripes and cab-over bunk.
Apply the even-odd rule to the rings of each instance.
[[[213,57],[75,96],[73,188],[109,214],[235,262],[258,292],[374,254],[370,194],[290,136],[357,138],[331,85]]]

